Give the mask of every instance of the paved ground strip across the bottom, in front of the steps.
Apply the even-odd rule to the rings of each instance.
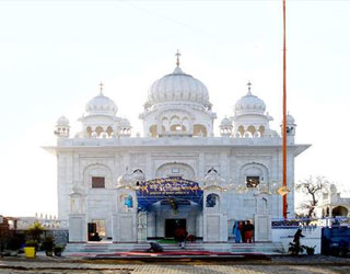
[[[350,259],[330,256],[307,258],[280,256],[268,261],[243,262],[187,262],[115,264],[112,262],[90,262],[82,260],[28,261],[23,259],[0,259],[0,274],[124,274],[124,273],[350,273]]]

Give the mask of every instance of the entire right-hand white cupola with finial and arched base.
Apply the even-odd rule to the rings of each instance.
[[[269,122],[272,117],[265,113],[266,105],[261,99],[252,93],[252,83],[247,83],[248,92],[234,106],[233,136],[236,138],[259,138],[270,136]]]

